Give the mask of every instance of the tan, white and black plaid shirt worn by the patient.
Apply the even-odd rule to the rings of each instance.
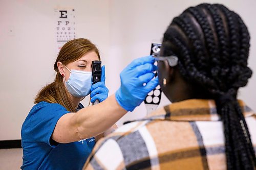
[[[256,148],[256,116],[239,101]],[[99,140],[83,169],[226,169],[223,123],[213,100],[160,108]]]

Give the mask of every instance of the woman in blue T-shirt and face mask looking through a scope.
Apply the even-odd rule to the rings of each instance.
[[[94,147],[94,136],[132,111],[158,84],[151,81],[156,70],[153,57],[140,58],[124,69],[121,87],[108,98],[104,67],[102,82],[92,85],[94,60],[100,60],[100,55],[88,39],[74,39],[61,48],[54,64],[56,78],[39,91],[22,126],[22,169],[81,169]],[[132,94],[133,89],[140,94]],[[80,101],[90,93],[91,102],[100,103],[83,108]]]

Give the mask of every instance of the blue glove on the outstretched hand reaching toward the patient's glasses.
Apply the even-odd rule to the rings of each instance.
[[[152,56],[134,60],[121,74],[121,86],[116,91],[116,101],[127,111],[133,111],[146,98],[148,92],[158,85],[158,77],[153,79],[157,69]],[[143,85],[146,83],[146,85]]]

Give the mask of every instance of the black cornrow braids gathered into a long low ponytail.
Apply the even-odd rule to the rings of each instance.
[[[250,36],[241,17],[219,4],[200,4],[175,17],[164,33],[163,55],[176,55],[182,77],[214,99],[224,124],[227,169],[254,169],[255,152],[237,101],[247,84]]]

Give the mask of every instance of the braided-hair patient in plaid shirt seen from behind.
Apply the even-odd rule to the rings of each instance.
[[[249,39],[240,16],[223,5],[175,17],[156,56],[173,104],[100,140],[83,168],[255,169],[256,114],[237,99],[252,75]]]

